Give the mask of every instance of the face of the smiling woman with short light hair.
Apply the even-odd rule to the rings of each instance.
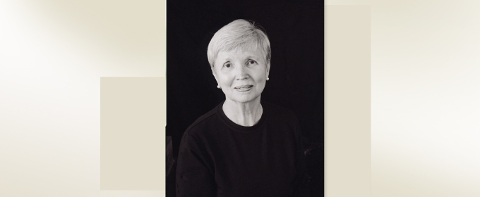
[[[270,64],[260,49],[220,51],[212,67],[223,93],[236,103],[260,99],[269,70]]]

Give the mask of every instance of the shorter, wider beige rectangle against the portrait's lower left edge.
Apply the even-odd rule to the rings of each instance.
[[[165,77],[101,77],[100,189],[164,189],[165,87]]]

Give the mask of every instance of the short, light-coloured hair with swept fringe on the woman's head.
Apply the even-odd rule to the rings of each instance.
[[[207,49],[208,63],[213,67],[218,53],[234,49],[262,49],[265,63],[270,64],[272,51],[267,34],[244,19],[234,20],[218,30],[210,40]]]

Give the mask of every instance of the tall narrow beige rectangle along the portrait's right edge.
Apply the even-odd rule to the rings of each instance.
[[[370,6],[325,6],[325,196],[371,196]]]

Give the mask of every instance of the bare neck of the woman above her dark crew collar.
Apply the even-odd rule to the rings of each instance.
[[[222,109],[230,120],[244,127],[256,125],[263,113],[260,96],[248,103],[237,103],[227,98]]]

